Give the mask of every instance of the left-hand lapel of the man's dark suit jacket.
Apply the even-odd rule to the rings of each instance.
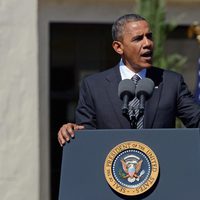
[[[117,118],[118,123],[120,124],[120,128],[130,128],[130,123],[122,115],[122,101],[118,97],[118,85],[121,81],[121,75],[119,72],[119,66],[116,66],[113,68],[113,71],[111,71],[109,75],[106,77],[107,81],[107,87],[106,91],[109,96],[109,99],[111,101],[111,105],[113,107],[114,116]]]

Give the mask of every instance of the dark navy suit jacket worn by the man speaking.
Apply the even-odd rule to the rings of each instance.
[[[174,128],[176,117],[186,127],[199,127],[200,107],[194,103],[180,74],[151,67],[146,77],[154,81],[155,89],[145,103],[144,128]],[[118,97],[120,81],[119,66],[85,78],[80,88],[76,123],[86,128],[130,128]]]

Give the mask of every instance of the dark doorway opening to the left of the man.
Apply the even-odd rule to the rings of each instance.
[[[58,199],[60,181],[57,132],[74,121],[81,79],[119,61],[111,44],[111,24],[50,23],[51,200]]]

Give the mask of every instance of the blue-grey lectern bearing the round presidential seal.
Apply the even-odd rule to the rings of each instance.
[[[143,158],[145,148],[135,150],[134,142],[157,157],[159,172],[150,189],[152,156],[148,150],[149,157]],[[125,155],[127,144],[133,145]],[[59,200],[194,200],[200,198],[199,180],[199,129],[81,130],[63,148]],[[132,195],[126,186],[138,194]]]

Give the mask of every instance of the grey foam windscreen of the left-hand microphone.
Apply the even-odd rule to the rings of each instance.
[[[124,95],[128,94],[131,97],[135,95],[135,83],[130,79],[121,80],[118,86],[118,96],[123,99]]]

